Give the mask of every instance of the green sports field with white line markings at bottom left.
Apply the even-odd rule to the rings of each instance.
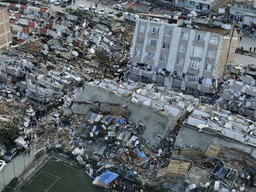
[[[88,175],[74,166],[51,160],[22,192],[96,192]]]

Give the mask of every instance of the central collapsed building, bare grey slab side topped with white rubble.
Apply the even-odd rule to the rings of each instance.
[[[130,109],[129,120],[137,124],[143,123],[146,129],[142,136],[154,146],[199,102],[199,99],[192,96],[178,94],[165,87],[155,87],[153,84],[117,84],[111,80],[85,84],[74,96],[78,102],[77,111],[85,112],[82,110],[86,108],[79,105],[83,101],[126,106]]]

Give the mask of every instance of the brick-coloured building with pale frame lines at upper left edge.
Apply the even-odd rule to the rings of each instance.
[[[0,51],[5,50],[12,43],[12,33],[9,22],[9,12],[0,8]]]

